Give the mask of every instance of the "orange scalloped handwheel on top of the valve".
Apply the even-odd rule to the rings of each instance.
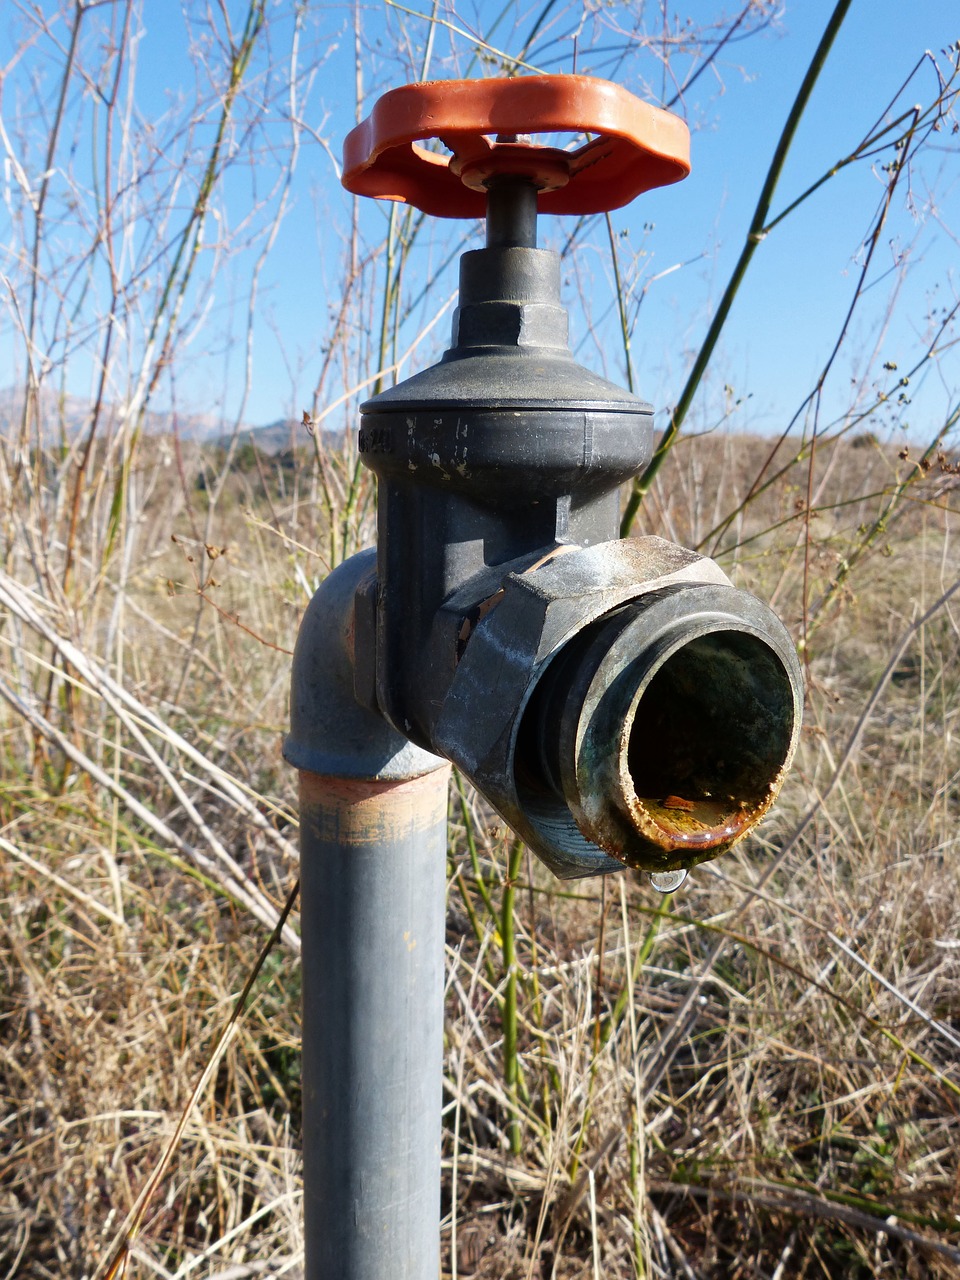
[[[589,134],[566,151],[532,134]],[[436,138],[449,155],[422,143]],[[384,93],[343,146],[343,186],[435,218],[483,218],[498,178],[532,183],[545,214],[620,209],[690,172],[686,124],[590,76],[430,81]]]

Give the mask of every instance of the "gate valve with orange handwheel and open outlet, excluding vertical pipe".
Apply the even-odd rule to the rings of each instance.
[[[558,876],[626,864],[664,891],[769,809],[800,666],[713,561],[620,539],[653,410],[573,360],[536,215],[617,209],[687,172],[682,120],[585,76],[397,88],[343,166],[358,195],[486,218],[486,247],[461,257],[449,349],[361,406],[379,497],[376,561],[343,570],[355,698],[452,760]],[[306,744],[325,713],[298,662],[287,756],[324,772]]]

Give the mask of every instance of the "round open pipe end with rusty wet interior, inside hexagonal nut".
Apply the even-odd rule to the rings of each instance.
[[[758,599],[717,585],[654,591],[549,664],[517,741],[518,778],[538,820],[556,826],[562,805],[627,865],[686,869],[769,809],[801,690],[790,639]]]

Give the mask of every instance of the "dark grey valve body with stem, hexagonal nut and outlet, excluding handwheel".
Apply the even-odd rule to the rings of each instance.
[[[379,479],[375,598],[371,589],[357,609],[357,650],[376,654],[362,701],[453,760],[558,876],[622,863],[689,868],[723,852],[769,808],[796,745],[800,667],[773,613],[735,591],[713,562],[662,539],[620,541],[618,489],[650,456],[650,406],[573,361],[559,260],[530,247],[531,184],[502,178],[489,200],[492,247],[461,259],[451,348],[361,407],[361,456]],[[699,617],[710,584],[727,594]],[[668,588],[669,605],[648,614],[652,593]],[[631,602],[646,621],[600,626]],[[630,760],[643,759],[643,730],[632,726],[649,721],[667,684],[680,687],[669,675],[654,680],[664,659],[650,628],[664,608],[677,653],[669,672],[696,668],[700,684],[695,713],[673,698],[700,763],[714,750],[732,759],[735,731],[724,726],[753,733],[768,704],[776,730],[732,780],[731,767],[714,762],[694,785],[677,748],[668,785],[641,778],[636,791]],[[714,641],[698,640],[707,632]],[[605,657],[604,646],[617,652]],[[561,650],[548,676],[556,723],[541,707],[522,727]],[[749,653],[755,678],[731,691],[739,653]],[[559,716],[573,687],[581,704]],[[675,741],[660,721],[657,735]],[[538,733],[561,726],[566,763],[550,777]],[[716,787],[726,788],[722,801]],[[671,797],[694,808],[660,803]]]

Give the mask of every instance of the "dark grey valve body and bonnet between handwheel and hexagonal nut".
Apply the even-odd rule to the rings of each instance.
[[[650,457],[653,412],[573,360],[558,255],[497,247],[461,259],[443,361],[361,413],[379,480],[378,599],[376,634],[357,644],[376,652],[375,705],[434,750],[462,623],[444,602],[466,591],[479,607],[492,570],[616,539],[617,490]]]

